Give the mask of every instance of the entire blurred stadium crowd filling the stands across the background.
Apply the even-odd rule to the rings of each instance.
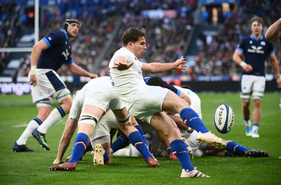
[[[11,5],[6,4],[5,6]],[[204,42],[202,50],[199,52],[198,57],[196,57],[195,66],[186,71],[176,70],[162,75],[192,74],[194,79],[197,75],[239,75],[242,69],[232,61],[231,57],[240,40],[244,36],[250,35],[249,17],[254,15],[262,16],[265,22],[264,31],[266,31],[267,26],[272,24],[272,20],[276,20],[278,18],[276,16],[281,13],[280,8],[278,9],[280,2],[276,0],[272,0],[271,3],[262,2],[261,6],[257,6],[258,3],[242,0],[239,6],[234,7],[228,12],[227,16],[219,13],[219,16],[221,16],[219,20],[222,22],[222,24],[219,24],[219,34],[213,36],[210,43]],[[141,62],[173,62],[181,55],[185,55],[182,51],[193,25],[192,11],[195,8],[196,3],[193,0],[71,0],[61,2],[57,13],[45,12],[45,28],[40,32],[40,38],[51,31],[60,29],[62,27],[61,22],[65,17],[76,17],[81,21],[81,29],[76,39],[72,42],[72,58],[75,63],[84,66],[87,70],[91,70],[97,57],[101,54],[106,41],[111,38],[115,23],[122,21],[121,29],[114,38],[104,61],[101,62],[100,70],[96,71],[101,76],[104,76],[108,75],[109,70],[107,66],[113,52],[116,48],[122,46],[121,37],[123,31],[131,26],[144,27],[147,31],[148,49]],[[2,9],[1,6],[1,11]],[[141,10],[145,9],[175,9],[177,13],[175,18],[151,18],[141,15]],[[13,10],[16,11],[16,7]],[[11,25],[9,22],[16,21],[18,16],[8,16],[8,21],[7,18],[6,20],[3,19],[3,13],[1,15],[1,31],[9,33],[9,31],[3,31],[3,25]],[[5,29],[9,30],[7,27]],[[10,29],[16,29],[16,27],[11,27]],[[7,45],[9,37],[4,34],[0,34],[0,37],[5,37],[0,43],[4,47],[5,43]],[[6,41],[4,42],[3,40]],[[274,44],[274,49],[277,59],[280,61],[280,44]],[[26,55],[22,59],[26,65],[21,65],[27,67],[27,69],[30,65],[28,59],[30,59],[30,56]],[[3,57],[1,56],[1,68],[5,68],[3,67],[5,62],[2,62],[2,60]],[[27,76],[29,70],[24,71],[26,73],[18,73],[18,75]],[[270,62],[267,62],[265,71],[267,74],[273,73]],[[58,71],[58,74],[70,75],[69,71],[64,67]]]

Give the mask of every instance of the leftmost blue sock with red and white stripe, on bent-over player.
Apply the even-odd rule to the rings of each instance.
[[[69,163],[78,162],[78,160],[81,158],[81,156],[83,155],[84,151],[87,148],[88,139],[89,139],[88,135],[84,133],[77,134],[74,141],[74,147],[72,149],[71,158],[68,161]]]

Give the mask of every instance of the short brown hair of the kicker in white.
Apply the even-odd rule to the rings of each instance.
[[[131,27],[128,30],[124,31],[122,36],[122,43],[123,45],[128,45],[129,42],[137,42],[142,37],[146,36],[146,31],[144,28],[141,28],[141,30]]]

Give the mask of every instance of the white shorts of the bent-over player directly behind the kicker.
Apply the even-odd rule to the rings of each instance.
[[[122,109],[125,107],[122,100],[114,91],[109,77],[92,79],[75,94],[69,112],[69,118],[79,120],[82,107],[91,105],[103,111]]]

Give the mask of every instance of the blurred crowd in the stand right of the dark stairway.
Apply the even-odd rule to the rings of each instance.
[[[251,35],[249,20],[254,15],[263,17],[264,33],[275,20],[277,20],[281,9],[280,1],[273,0],[256,3],[256,1],[241,1],[239,7],[231,11],[230,17],[222,17],[219,25],[218,35],[214,36],[210,44],[205,43],[200,51],[196,65],[193,68],[194,75],[240,75],[242,68],[232,61],[232,55],[243,37]],[[263,35],[264,35],[263,33]],[[281,48],[279,42],[274,42],[275,54],[280,61]],[[270,61],[265,66],[266,74],[273,74]]]

